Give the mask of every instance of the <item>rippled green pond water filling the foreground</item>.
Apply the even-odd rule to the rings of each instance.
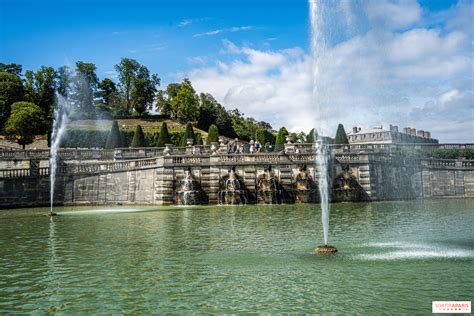
[[[0,211],[0,314],[431,314],[474,296],[474,200]]]

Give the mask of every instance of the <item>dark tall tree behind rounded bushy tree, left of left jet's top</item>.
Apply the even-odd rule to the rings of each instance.
[[[36,72],[25,72],[25,100],[38,105],[43,111],[44,121],[48,123],[53,116],[57,77],[53,67],[41,66]]]

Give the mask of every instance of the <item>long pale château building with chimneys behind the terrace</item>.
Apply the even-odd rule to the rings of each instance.
[[[415,128],[405,127],[403,133],[398,131],[398,126],[390,125],[389,130],[383,126],[362,130],[354,126],[352,132],[347,134],[350,144],[400,144],[400,143],[427,143],[437,144],[438,140],[431,138],[431,132],[416,130]]]

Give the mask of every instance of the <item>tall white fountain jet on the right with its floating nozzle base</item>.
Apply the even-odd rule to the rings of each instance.
[[[323,224],[324,246],[316,248],[317,252],[336,252],[336,248],[327,246],[329,237],[329,146],[322,137],[322,90],[321,62],[326,50],[326,42],[322,34],[321,1],[309,0],[309,15],[311,21],[311,77],[312,100],[316,110],[316,166],[318,170],[318,187],[321,200],[321,220]]]

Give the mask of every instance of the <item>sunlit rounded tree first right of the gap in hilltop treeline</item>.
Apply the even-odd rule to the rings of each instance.
[[[181,122],[195,122],[199,117],[199,98],[191,81],[184,79],[178,94],[171,101],[173,113]]]

